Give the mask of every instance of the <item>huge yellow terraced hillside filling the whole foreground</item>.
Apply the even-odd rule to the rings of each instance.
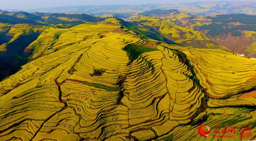
[[[255,106],[256,60],[120,27],[110,18],[42,31],[26,48],[30,62],[0,82],[0,140],[204,140],[198,127],[217,123],[256,130],[255,109],[242,106]]]

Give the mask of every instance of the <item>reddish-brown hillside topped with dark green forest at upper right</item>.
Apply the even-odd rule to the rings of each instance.
[[[199,31],[212,39],[218,40],[224,46],[240,54],[256,57],[255,31],[256,24],[253,15],[229,14],[208,16],[210,25],[202,25]]]

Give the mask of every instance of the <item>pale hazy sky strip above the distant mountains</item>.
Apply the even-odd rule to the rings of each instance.
[[[183,3],[196,2],[204,0],[0,0],[0,9],[36,9],[46,7],[61,7],[74,5],[140,5],[140,4],[166,4],[166,3]],[[220,1],[220,0],[208,0]],[[242,0],[239,0],[242,1]],[[248,1],[248,0],[247,0]]]

